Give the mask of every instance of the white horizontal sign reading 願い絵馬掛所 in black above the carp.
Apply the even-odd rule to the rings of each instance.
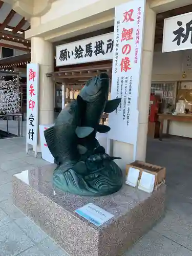
[[[56,66],[113,58],[114,33],[99,35],[56,47]]]

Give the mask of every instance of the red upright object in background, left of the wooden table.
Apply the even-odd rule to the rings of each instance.
[[[148,120],[150,122],[157,122],[159,113],[159,96],[151,94],[150,96],[150,112],[148,114]]]

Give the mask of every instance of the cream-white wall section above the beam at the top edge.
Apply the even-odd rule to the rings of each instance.
[[[97,1],[99,0],[57,0],[53,2],[51,10],[41,16],[41,24],[45,24],[50,20],[77,11],[88,5],[92,5]]]

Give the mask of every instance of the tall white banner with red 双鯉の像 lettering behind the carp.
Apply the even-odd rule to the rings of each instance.
[[[138,94],[141,73],[145,0],[130,1],[115,8],[111,98],[121,98],[109,115],[109,139],[134,145],[138,133]]]

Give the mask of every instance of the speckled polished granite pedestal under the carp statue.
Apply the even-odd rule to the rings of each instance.
[[[80,197],[55,190],[54,164],[13,177],[14,204],[71,256],[117,256],[129,249],[164,214],[165,185],[147,194],[128,185],[117,193]],[[97,227],[75,209],[93,203],[114,217]]]

